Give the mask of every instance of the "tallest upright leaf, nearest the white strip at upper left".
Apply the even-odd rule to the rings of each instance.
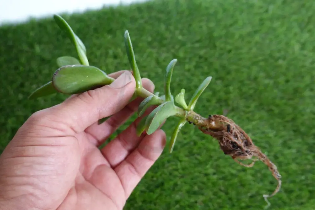
[[[86,48],[82,42],[82,40],[73,32],[72,28],[69,26],[69,24],[64,20],[62,17],[60,17],[57,14],[54,14],[54,20],[59,26],[59,28],[66,32],[67,36],[70,38],[72,43],[77,49],[77,54],[81,60],[81,63],[83,65],[89,65],[89,60],[86,57]]]

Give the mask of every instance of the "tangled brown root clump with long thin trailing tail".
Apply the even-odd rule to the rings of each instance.
[[[281,175],[277,167],[254,145],[252,139],[235,122],[223,115],[209,115],[208,125],[199,129],[218,140],[221,150],[226,155],[230,155],[235,162],[245,167],[253,167],[255,162],[260,160],[265,163],[272,175],[278,181],[278,186],[271,195],[263,195],[265,201],[270,203],[267,198],[278,193],[281,188]],[[256,159],[252,159],[256,157]],[[243,164],[238,160],[251,159],[249,165]]]

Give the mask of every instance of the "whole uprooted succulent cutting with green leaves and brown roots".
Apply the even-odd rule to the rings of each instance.
[[[59,68],[52,75],[50,81],[40,88],[37,88],[29,98],[35,99],[57,92],[68,95],[79,94],[111,84],[115,80],[114,78],[109,77],[106,72],[100,68],[89,65],[86,48],[83,42],[74,33],[66,20],[59,15],[54,15],[54,20],[61,31],[72,41],[79,59],[70,56],[57,58],[56,63]],[[252,139],[242,128],[224,115],[213,114],[203,117],[194,111],[198,98],[207,88],[212,77],[206,77],[203,82],[201,82],[187,104],[184,88],[181,89],[175,97],[171,91],[170,84],[172,73],[177,62],[177,60],[174,59],[171,60],[166,67],[164,94],[161,96],[159,96],[159,93],[153,94],[142,87],[141,75],[136,63],[135,53],[128,31],[125,31],[124,42],[130,67],[136,81],[136,89],[132,99],[137,97],[143,98],[143,101],[139,105],[137,116],[142,116],[149,107],[156,106],[151,113],[141,119],[137,126],[137,135],[140,136],[143,132],[151,135],[161,127],[169,117],[175,117],[178,119],[178,124],[174,128],[169,144],[169,152],[172,152],[181,128],[187,122],[193,123],[201,132],[216,139],[224,154],[231,156],[232,159],[240,165],[253,167],[256,161],[262,161],[268,166],[273,177],[277,179],[278,186],[271,195],[264,195],[265,200],[267,197],[274,196],[280,190],[281,175],[277,167],[254,145]],[[99,123],[102,123],[104,120],[106,119],[100,119]],[[247,165],[240,162],[240,160],[252,160],[252,163]],[[267,200],[266,202],[270,205]]]

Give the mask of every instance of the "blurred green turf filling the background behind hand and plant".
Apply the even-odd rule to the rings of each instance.
[[[189,99],[212,76],[195,111],[208,116],[228,110],[277,165],[283,184],[268,199],[269,209],[311,210],[314,10],[312,0],[160,0],[61,15],[85,43],[90,65],[108,73],[129,69],[123,42],[129,30],[140,73],[156,91],[163,92],[165,68],[174,58],[173,94],[185,88]],[[33,112],[65,99],[27,100],[50,80],[55,60],[63,55],[77,57],[52,18],[0,27],[2,148]],[[163,126],[168,139],[176,122],[170,118]],[[238,165],[215,139],[187,123],[173,153],[166,145],[125,209],[263,209],[262,195],[276,185],[262,162],[253,168]]]

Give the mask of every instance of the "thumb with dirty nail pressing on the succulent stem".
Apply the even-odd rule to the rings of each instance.
[[[99,119],[121,110],[135,92],[135,78],[125,71],[110,85],[70,97],[45,112],[50,122],[60,122],[62,130],[70,128],[75,133],[84,131]],[[66,126],[66,128],[65,128]]]

